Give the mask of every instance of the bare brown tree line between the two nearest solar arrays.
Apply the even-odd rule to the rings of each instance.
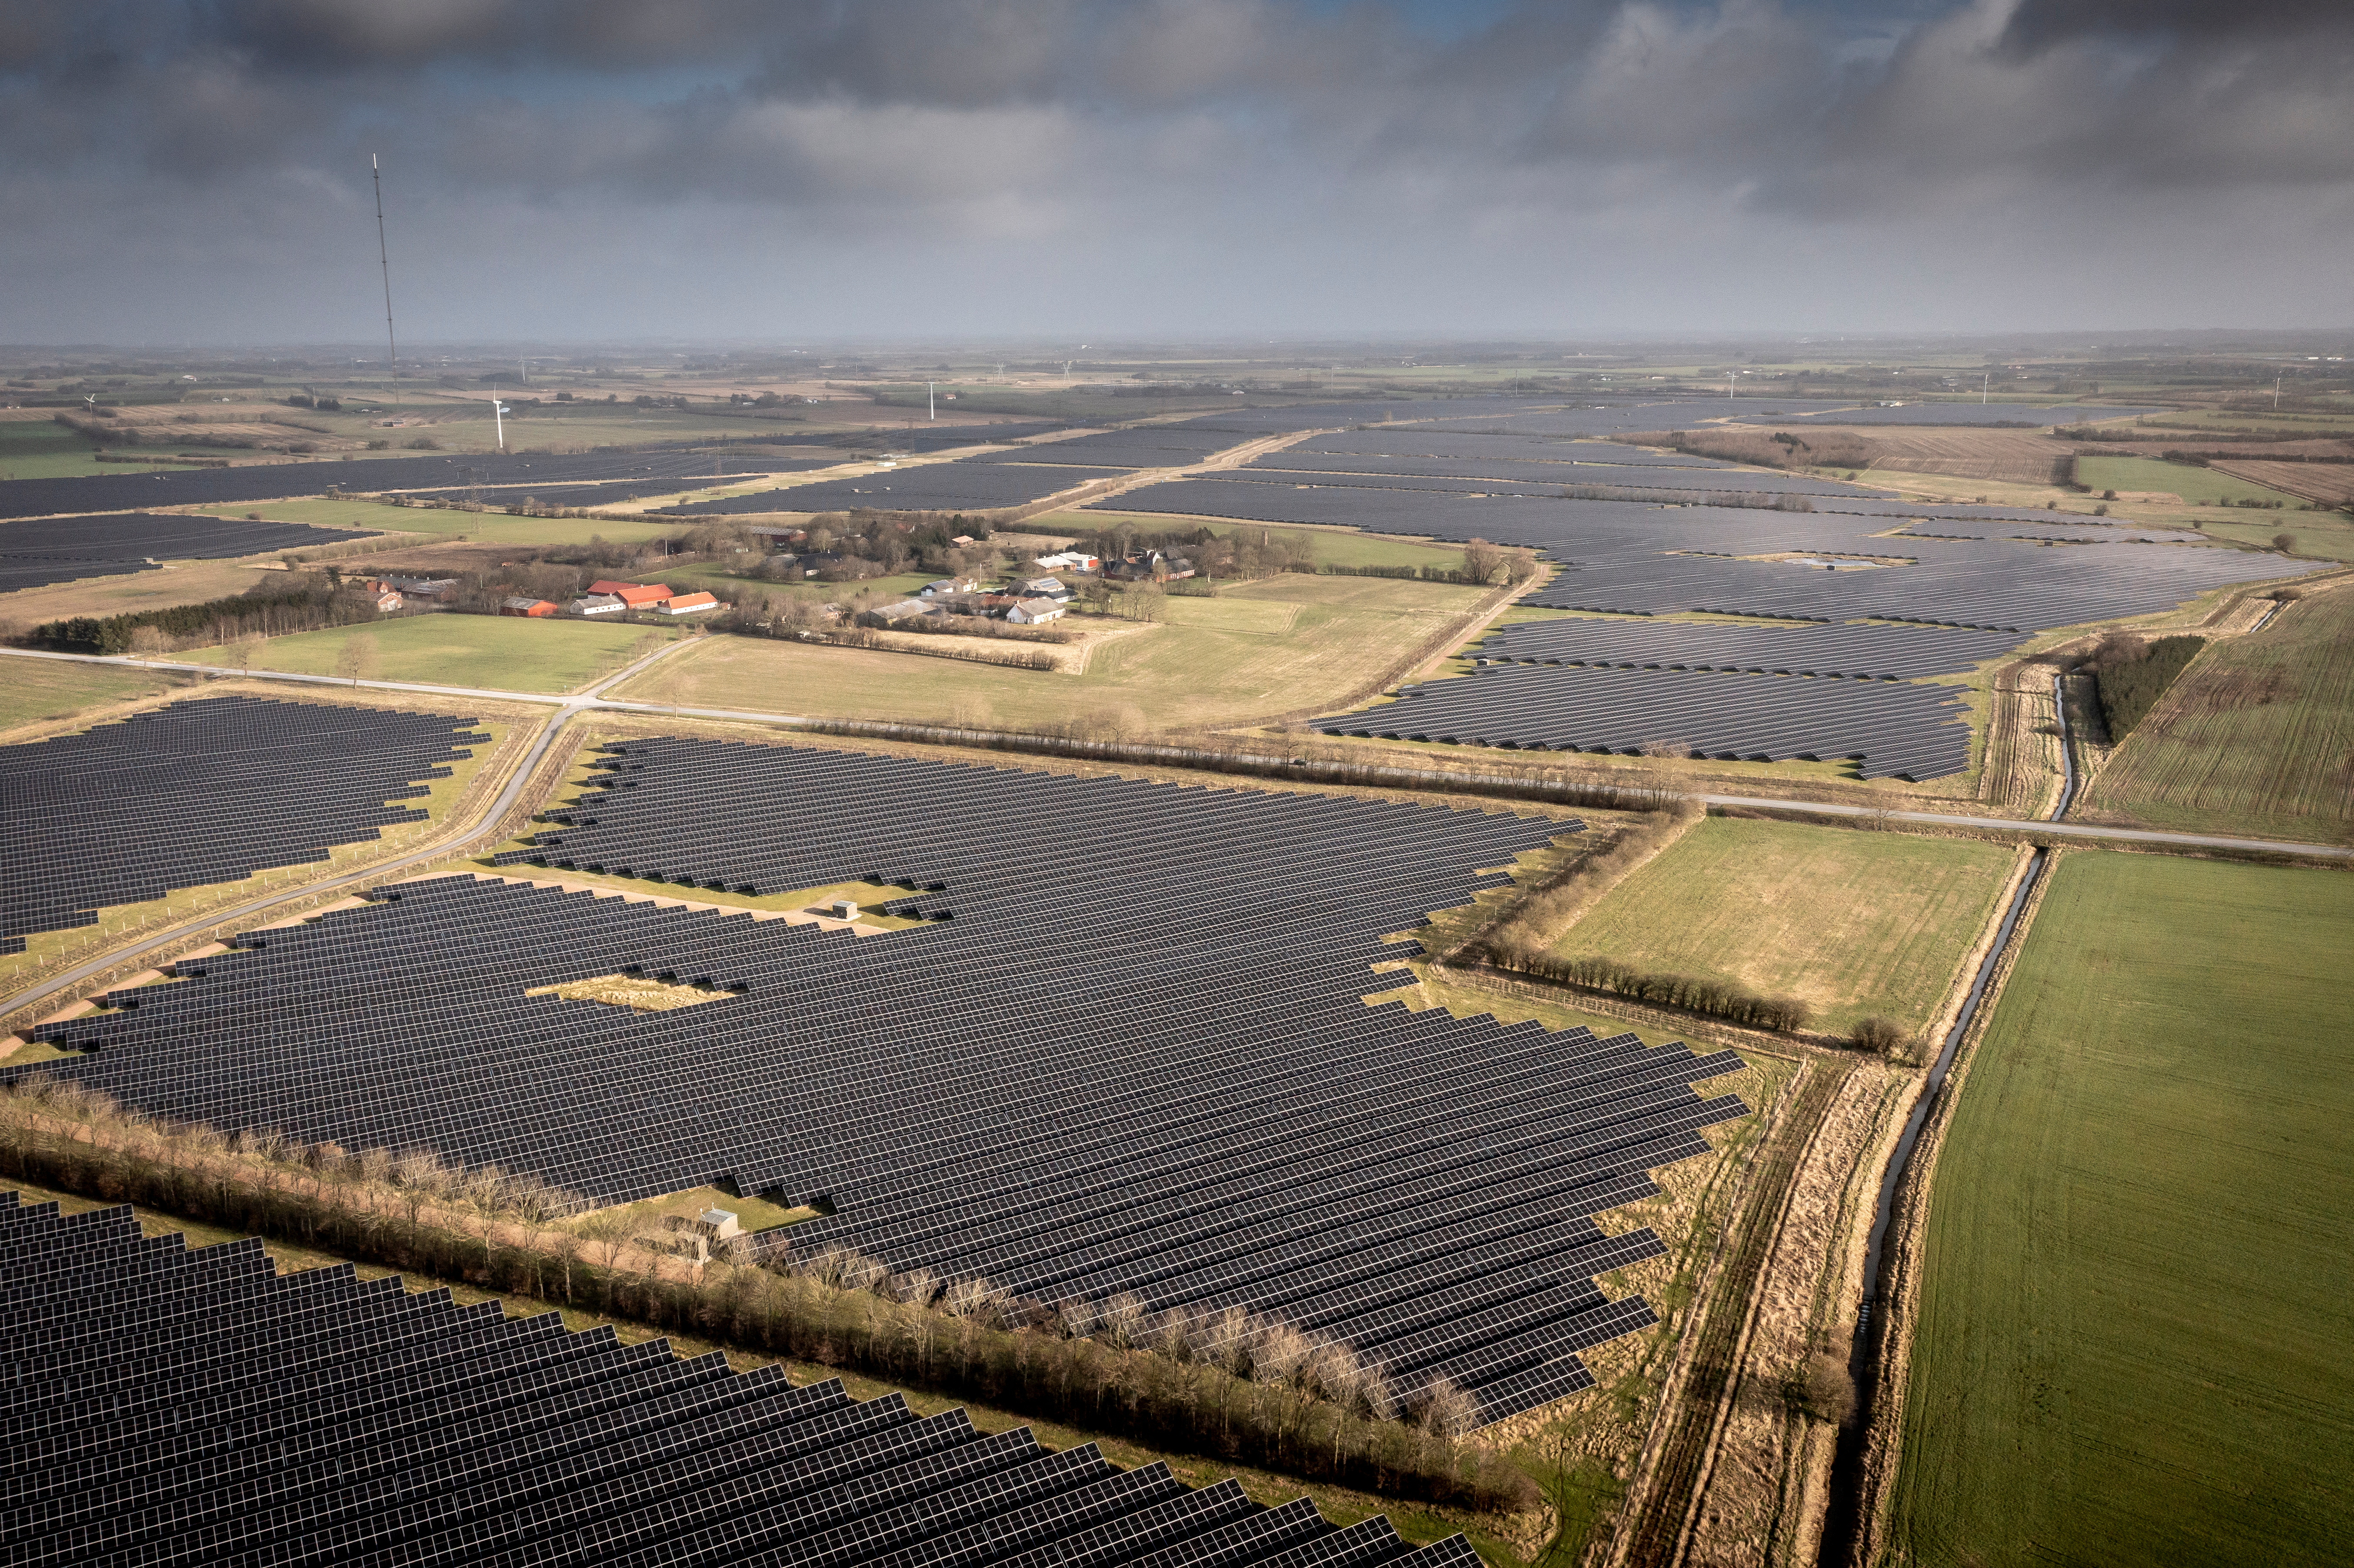
[[[80,1123],[85,1137],[52,1123]],[[431,1151],[219,1132],[33,1074],[0,1099],[0,1168],[26,1182],[471,1281],[664,1330],[977,1398],[1036,1420],[1311,1481],[1476,1509],[1537,1502],[1464,1443],[1474,1398],[1410,1398],[1346,1344],[1241,1307],[1153,1314],[1128,1293],[1017,1304],[986,1278],[892,1274],[840,1248],[723,1245],[685,1269],[626,1210]],[[654,1245],[647,1245],[654,1243]]]

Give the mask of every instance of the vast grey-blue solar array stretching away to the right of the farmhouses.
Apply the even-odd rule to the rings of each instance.
[[[1857,758],[1864,777],[1904,779],[1968,768],[1954,692],[1862,690],[1827,678],[1959,673],[2036,631],[2149,614],[2210,589],[2312,570],[2276,556],[2180,549],[2199,539],[2194,532],[2060,520],[2050,511],[1914,506],[1836,480],[1568,440],[1657,428],[1695,412],[1768,419],[1806,410],[1728,400],[1379,424],[1309,436],[1245,469],[1165,480],[1095,506],[1528,546],[1561,567],[1523,596],[1530,607],[1827,622],[1813,633],[1733,624],[1511,626],[1478,657],[1514,669],[1408,687],[1396,702],[1318,720],[1325,735]],[[2130,410],[2064,414],[2112,412]],[[1622,499],[1570,499],[1577,485],[1608,485]],[[1803,497],[1808,509],[1695,506],[1678,492]],[[1963,631],[1928,638],[1853,622]],[[1763,678],[1775,673],[1782,678]]]

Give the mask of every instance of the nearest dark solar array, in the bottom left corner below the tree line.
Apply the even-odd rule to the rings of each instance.
[[[12,1563],[1478,1568],[838,1380],[0,1191]]]

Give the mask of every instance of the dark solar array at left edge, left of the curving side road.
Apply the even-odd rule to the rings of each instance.
[[[426,812],[471,718],[264,697],[202,697],[0,749],[0,954],[99,909],[327,859]]]

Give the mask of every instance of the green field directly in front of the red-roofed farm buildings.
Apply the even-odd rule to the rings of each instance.
[[[299,631],[252,645],[254,669],[337,676],[353,636],[377,643],[363,680],[428,680],[511,692],[570,692],[621,669],[633,650],[678,636],[671,626],[605,622],[527,622],[508,614],[412,614],[370,626]],[[238,647],[177,655],[195,664],[238,666]]]

